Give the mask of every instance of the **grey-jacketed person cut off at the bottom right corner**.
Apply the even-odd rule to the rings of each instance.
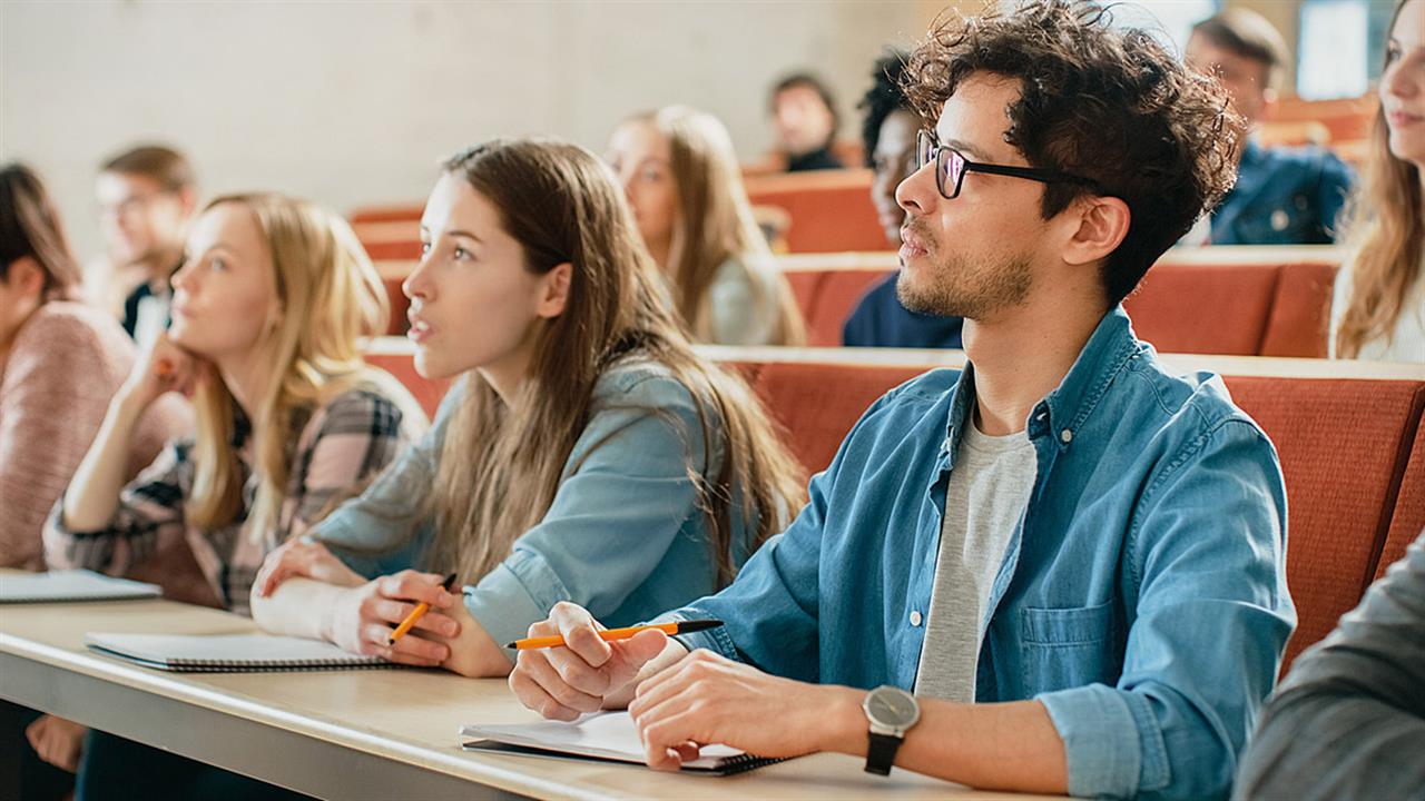
[[[1422,754],[1425,532],[1335,631],[1291,664],[1243,754],[1233,795],[1419,798]]]

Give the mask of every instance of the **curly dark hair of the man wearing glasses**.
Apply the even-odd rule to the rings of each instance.
[[[902,83],[933,125],[968,77],[1017,78],[1005,141],[1033,167],[1094,184],[1046,185],[1040,215],[1087,194],[1117,197],[1131,212],[1103,267],[1114,305],[1233,187],[1245,123],[1217,81],[1183,67],[1147,31],[1110,23],[1107,9],[1083,0],[952,17],[911,54]]]

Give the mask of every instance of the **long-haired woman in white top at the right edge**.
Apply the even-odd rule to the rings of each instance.
[[[1425,362],[1425,1],[1395,7],[1365,181],[1331,296],[1344,359]]]

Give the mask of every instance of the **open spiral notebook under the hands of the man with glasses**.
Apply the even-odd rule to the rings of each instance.
[[[466,725],[462,737],[467,751],[524,754],[564,760],[643,764],[643,743],[628,713],[596,713],[574,723],[540,721],[523,725]],[[684,771],[730,775],[782,760],[755,757],[727,745],[704,745],[701,757],[685,763]]]

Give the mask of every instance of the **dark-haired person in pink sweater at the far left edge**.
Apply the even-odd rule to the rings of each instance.
[[[111,316],[76,302],[78,288],[80,269],[44,185],[21,164],[0,167],[3,567],[44,567],[44,517],[64,493],[108,399],[134,363],[133,342]],[[150,409],[124,455],[124,475],[137,473],[190,425],[187,403],[178,398]],[[7,703],[0,703],[0,797],[60,798],[68,792],[83,730]]]

